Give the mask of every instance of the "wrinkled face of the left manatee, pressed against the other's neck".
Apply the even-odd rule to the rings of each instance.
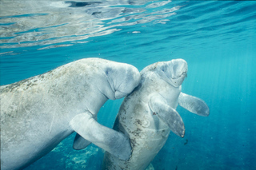
[[[113,91],[113,95],[109,97],[112,100],[125,97],[131,93],[141,78],[138,69],[125,63],[108,65],[105,73]]]

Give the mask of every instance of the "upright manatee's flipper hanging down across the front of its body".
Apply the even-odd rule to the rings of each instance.
[[[165,122],[172,132],[178,136],[184,136],[185,127],[182,117],[175,109],[166,104],[165,98],[161,95],[154,95],[150,97],[149,106],[152,112]]]

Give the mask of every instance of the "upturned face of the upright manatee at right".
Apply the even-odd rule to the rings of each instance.
[[[174,59],[160,63],[156,69],[156,72],[164,81],[168,82],[174,87],[178,87],[182,85],[182,82],[187,74],[187,69],[188,68],[185,60]]]

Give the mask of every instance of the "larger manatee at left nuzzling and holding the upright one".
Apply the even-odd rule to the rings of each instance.
[[[128,159],[130,140],[95,119],[108,99],[125,97],[139,81],[132,65],[87,58],[1,86],[1,169],[25,168],[72,132]]]

